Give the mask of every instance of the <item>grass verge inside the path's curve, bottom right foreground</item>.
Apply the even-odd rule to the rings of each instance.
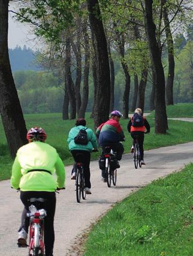
[[[84,256],[192,256],[193,164],[153,181],[95,225]]]

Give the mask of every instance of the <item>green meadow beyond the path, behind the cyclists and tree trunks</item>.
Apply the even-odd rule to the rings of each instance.
[[[190,104],[188,104],[190,108]],[[186,109],[187,104],[180,105],[183,109]],[[170,109],[171,107],[168,107]],[[173,106],[172,106],[173,108]],[[193,109],[193,104],[191,104],[191,109]],[[169,110],[168,110],[169,111]],[[193,111],[193,110],[192,110]],[[181,113],[185,113],[183,110]],[[93,129],[93,119],[89,118],[90,113],[86,114],[87,126]],[[183,115],[181,116],[183,117]],[[193,113],[192,113],[193,117]],[[166,135],[155,134],[154,132],[154,117],[147,117],[147,120],[151,126],[150,134],[146,135],[144,141],[144,150],[158,148],[163,146],[176,145],[179,143],[184,143],[188,141],[193,141],[193,123],[187,123],[182,121],[172,121],[168,120],[169,130]],[[45,129],[47,133],[46,142],[55,147],[60,154],[65,165],[73,163],[73,158],[68,150],[67,138],[68,133],[72,127],[75,125],[75,120],[62,120],[62,115],[59,113],[55,114],[28,114],[25,115],[25,121],[27,129],[32,126],[41,126]],[[130,134],[127,132],[128,120],[121,119],[120,124],[122,125],[126,141],[123,142],[125,153],[130,151],[132,139]],[[3,131],[2,123],[0,123],[0,180],[9,179],[11,174],[11,166],[13,159],[9,155],[9,150],[7,148],[6,139]],[[186,136],[184,136],[184,131],[186,131]],[[97,159],[100,153],[93,153],[92,159]]]

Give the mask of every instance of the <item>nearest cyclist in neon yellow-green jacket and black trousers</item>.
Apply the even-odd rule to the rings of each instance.
[[[12,166],[11,186],[20,189],[20,199],[25,206],[18,231],[18,246],[27,246],[28,199],[42,197],[46,199],[47,212],[44,222],[45,256],[53,256],[55,190],[65,188],[65,169],[57,150],[44,143],[46,138],[47,135],[41,127],[33,127],[28,131],[29,143],[18,149]]]

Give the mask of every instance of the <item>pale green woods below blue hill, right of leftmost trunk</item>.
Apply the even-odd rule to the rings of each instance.
[[[13,74],[24,113],[61,112],[63,87],[58,77],[45,71],[18,71]]]

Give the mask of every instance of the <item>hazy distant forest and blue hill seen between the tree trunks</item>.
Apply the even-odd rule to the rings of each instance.
[[[174,77],[174,103],[191,102],[192,86],[192,59],[190,50],[192,40],[187,41],[183,36],[175,41],[175,77]],[[61,74],[57,71],[48,71],[38,68],[36,56],[33,50],[26,46],[10,49],[10,60],[13,71],[14,82],[18,90],[18,95],[23,113],[53,113],[61,112],[65,94],[65,82]],[[41,53],[40,53],[41,54]],[[113,54],[113,52],[112,52]],[[165,74],[167,74],[167,54],[164,55],[163,63]],[[123,92],[125,77],[120,62],[114,58],[115,65],[115,109],[122,111]],[[167,75],[165,75],[167,77]],[[72,78],[75,83],[76,72],[72,70]],[[82,78],[83,80],[83,78]],[[148,77],[145,95],[144,109],[149,110],[149,98],[151,93],[151,77]],[[129,110],[134,91],[134,81],[131,77],[131,90],[129,100]],[[81,83],[81,95],[83,94],[83,81]],[[89,102],[86,111],[93,108],[93,77],[89,76]]]

